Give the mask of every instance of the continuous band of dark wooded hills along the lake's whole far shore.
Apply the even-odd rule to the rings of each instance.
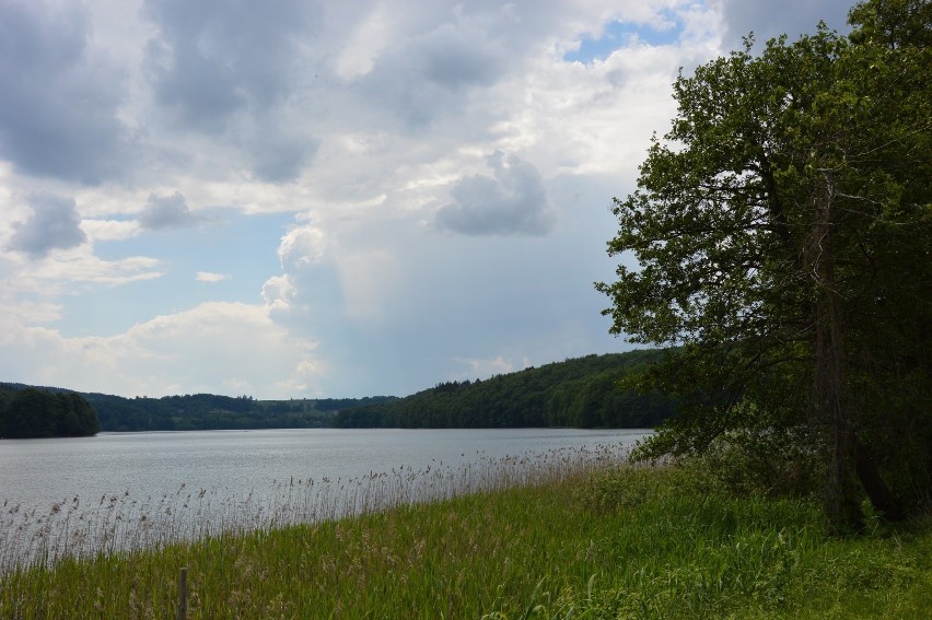
[[[125,398],[23,384],[0,384],[0,387],[4,389],[3,398],[11,402],[14,399],[25,402],[21,395],[26,390],[62,402],[68,398],[80,398],[93,408],[95,420],[100,420],[100,430],[110,432],[327,426],[641,429],[653,428],[669,417],[673,413],[669,400],[659,395],[624,391],[617,388],[616,383],[661,354],[661,351],[631,351],[587,355],[487,381],[441,383],[400,399],[373,396],[256,400],[249,396],[212,394]],[[48,411],[58,411],[55,407],[43,407],[36,405],[34,409],[45,413],[30,419],[45,419],[53,416]],[[70,430],[58,430],[58,422],[42,422],[39,426],[40,435],[8,432],[4,436],[73,434]],[[96,428],[88,434],[95,432]]]

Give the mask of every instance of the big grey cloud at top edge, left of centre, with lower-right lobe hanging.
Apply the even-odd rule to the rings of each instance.
[[[159,27],[147,46],[158,103],[173,125],[243,151],[256,178],[293,180],[318,147],[287,116],[315,71],[304,52],[316,12],[303,0],[147,1]]]

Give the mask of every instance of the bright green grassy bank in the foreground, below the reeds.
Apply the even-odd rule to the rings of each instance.
[[[342,519],[66,555],[0,576],[0,618],[174,617],[182,566],[188,618],[927,618],[932,609],[929,518],[837,539],[813,502],[731,496],[700,482],[674,467],[564,467]]]

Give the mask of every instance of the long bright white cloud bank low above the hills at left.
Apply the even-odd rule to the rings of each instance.
[[[230,393],[287,398],[314,393],[325,372],[314,348],[275,325],[266,306],[209,302],[109,337],[18,327],[0,339],[0,376],[126,396],[228,386]],[[23,367],[34,374],[22,376]]]

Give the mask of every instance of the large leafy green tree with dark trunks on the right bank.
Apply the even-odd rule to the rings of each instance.
[[[611,330],[677,344],[641,377],[683,407],[651,449],[735,429],[824,455],[826,507],[889,518],[932,484],[932,3],[870,0],[675,83],[671,131],[615,200]],[[774,442],[776,445],[776,442]]]

